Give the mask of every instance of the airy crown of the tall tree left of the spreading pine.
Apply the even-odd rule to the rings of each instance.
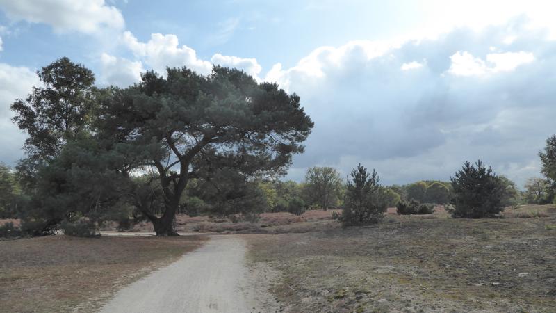
[[[75,134],[87,130],[94,118],[95,76],[90,70],[60,58],[37,74],[42,86],[11,105],[13,122],[28,134],[26,157],[17,166],[24,188],[33,188],[40,166],[54,159]]]

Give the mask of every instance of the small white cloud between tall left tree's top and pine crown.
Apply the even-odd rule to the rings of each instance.
[[[141,61],[129,61],[109,54],[101,55],[101,83],[126,87],[141,80],[145,72]]]

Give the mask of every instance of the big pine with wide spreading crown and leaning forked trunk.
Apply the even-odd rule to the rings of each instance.
[[[162,212],[142,205],[151,201],[138,209],[161,235],[174,234],[172,222],[190,179],[211,179],[204,173],[222,167],[245,177],[282,174],[313,127],[297,95],[225,67],[206,77],[186,68],[168,69],[166,78],[147,72],[136,86],[111,90],[99,111],[99,138],[135,156],[127,170],[154,173]],[[232,190],[211,203],[222,214],[241,210],[233,201],[253,198],[247,196],[253,191],[224,185]],[[222,199],[230,201],[224,205]]]

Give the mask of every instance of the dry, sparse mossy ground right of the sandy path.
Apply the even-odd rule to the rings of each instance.
[[[377,227],[247,234],[288,312],[555,312],[556,209],[544,218],[389,215]]]

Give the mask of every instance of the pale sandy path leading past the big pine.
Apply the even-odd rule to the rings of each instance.
[[[202,248],[118,291],[101,312],[259,312],[245,252],[238,236],[211,236]]]

